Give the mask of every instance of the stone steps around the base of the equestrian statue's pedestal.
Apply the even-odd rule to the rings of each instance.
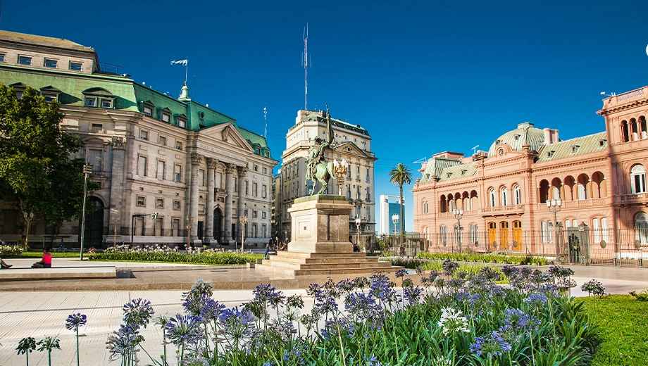
[[[256,268],[294,276],[328,274],[372,274],[395,272],[402,267],[392,267],[391,262],[379,262],[378,257],[365,253],[301,253],[278,251],[270,259],[258,260]]]

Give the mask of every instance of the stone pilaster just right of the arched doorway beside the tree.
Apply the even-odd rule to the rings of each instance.
[[[117,226],[118,236],[116,241],[121,242],[120,223],[128,222],[127,227],[130,227],[130,210],[125,210],[123,205],[124,199],[124,165],[125,165],[125,137],[113,137],[113,159],[111,168],[111,196],[110,196],[110,224],[108,224],[108,233],[106,242],[113,241],[115,226]],[[116,220],[117,219],[117,220]],[[116,224],[117,222],[117,224]],[[129,236],[130,239],[130,236]]]

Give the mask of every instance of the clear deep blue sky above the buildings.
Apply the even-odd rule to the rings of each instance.
[[[455,4],[456,3],[456,4]],[[487,150],[519,122],[561,139],[604,130],[600,92],[648,84],[648,1],[4,1],[0,29],[92,46],[138,82],[192,98],[285,149],[304,108],[365,127],[387,173],[440,151]],[[195,75],[195,83],[193,82]],[[411,186],[406,229],[413,229]],[[378,209],[376,215],[378,215]]]

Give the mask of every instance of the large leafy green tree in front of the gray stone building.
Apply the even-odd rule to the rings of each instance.
[[[73,158],[83,145],[59,127],[58,107],[30,87],[17,99],[0,84],[0,197],[20,212],[39,213],[46,225],[73,220],[83,206],[85,160]]]

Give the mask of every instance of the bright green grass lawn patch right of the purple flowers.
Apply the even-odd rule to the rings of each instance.
[[[648,365],[648,301],[630,295],[578,298],[592,324],[599,327],[601,343],[592,366]]]

